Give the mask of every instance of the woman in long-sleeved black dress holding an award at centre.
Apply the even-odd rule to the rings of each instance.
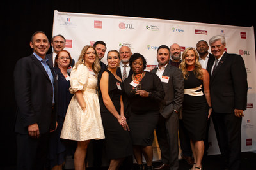
[[[144,71],[147,62],[140,53],[131,55],[129,64],[134,74],[125,79],[124,90],[131,108],[129,128],[134,157],[143,169],[144,155],[145,169],[152,169],[152,143],[159,118],[159,101],[164,99],[163,85],[156,74]]]

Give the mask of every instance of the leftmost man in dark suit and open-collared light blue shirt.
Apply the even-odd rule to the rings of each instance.
[[[56,129],[56,78],[45,58],[50,44],[44,32],[30,42],[34,53],[14,70],[17,117],[17,169],[44,169],[49,132]]]

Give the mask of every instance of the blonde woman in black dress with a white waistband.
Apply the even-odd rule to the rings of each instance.
[[[200,65],[195,48],[186,48],[182,54],[180,69],[184,76],[185,96],[182,117],[191,139],[191,149],[195,159],[192,169],[202,169],[204,138],[212,105],[209,90],[209,73]]]

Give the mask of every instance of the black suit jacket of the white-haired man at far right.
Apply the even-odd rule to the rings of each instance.
[[[209,63],[211,73],[214,60]],[[246,110],[247,73],[241,55],[225,52],[210,78],[212,108],[217,113]]]

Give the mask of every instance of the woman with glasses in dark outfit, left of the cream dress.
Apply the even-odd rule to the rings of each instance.
[[[70,94],[70,73],[67,72],[68,67],[72,59],[70,53],[66,50],[62,50],[56,55],[54,60],[54,73],[56,73],[56,78],[58,80],[58,126],[56,131],[51,132],[49,140],[49,166],[52,169],[62,169],[65,162],[66,155],[72,155],[74,153],[74,148],[72,148],[72,142],[68,143],[60,139],[61,129],[63,122],[65,120],[65,115],[67,112],[68,104],[73,96]]]

